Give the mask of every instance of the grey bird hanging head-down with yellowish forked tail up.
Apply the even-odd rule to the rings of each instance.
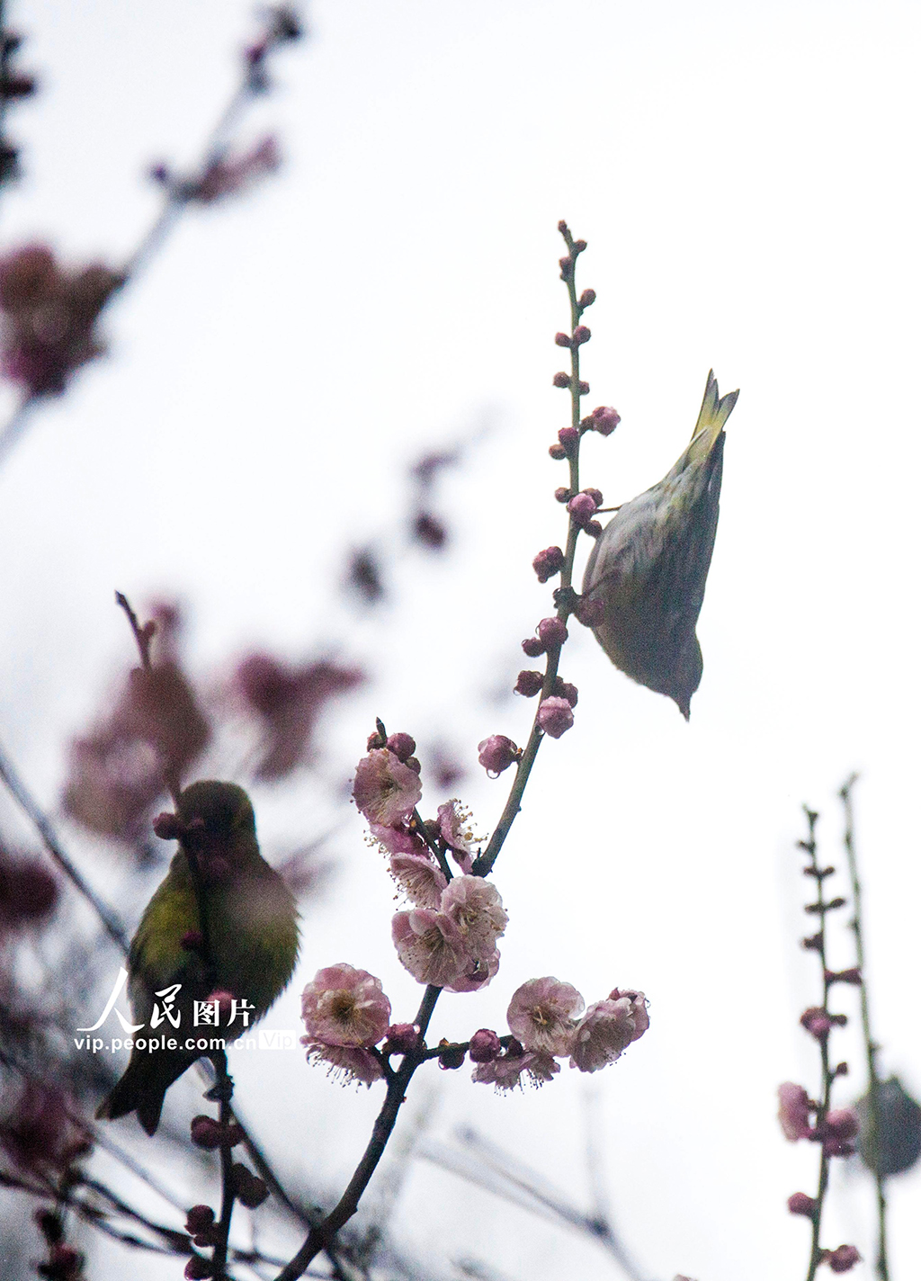
[[[615,667],[667,694],[685,720],[703,674],[696,628],[720,515],[724,427],[738,395],[720,400],[710,370],[690,445],[605,526],[582,587],[598,602],[592,630]]]

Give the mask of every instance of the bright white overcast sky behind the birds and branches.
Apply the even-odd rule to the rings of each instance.
[[[74,261],[127,256],[155,210],[143,169],[195,158],[249,9],[15,5],[20,63],[42,88],[12,115],[27,178],[0,199],[3,246],[41,236]],[[320,0],[310,22],[243,133],[278,127],[283,174],[184,220],[106,316],[111,359],[36,420],[0,475],[0,731],[51,803],[64,738],[131,657],[118,587],[184,597],[200,671],[256,642],[292,657],[329,642],[374,664],[379,683],[330,730],[342,774],[375,714],[469,760],[488,733],[523,742],[533,705],[479,696],[526,665],[518,643],[551,591],[529,562],[564,538],[564,477],[546,450],[567,414],[551,387],[565,216],[589,242],[580,286],[598,292],[589,405],[623,415],[585,446],[585,484],[619,502],[657,480],[711,365],[724,392],[742,389],[705,675],[685,725],[574,628],[562,666],[580,689],[576,725],[543,747],[497,867],[512,915],[502,968],[487,991],[444,1000],[434,1030],[498,1025],[533,975],[588,1000],[643,988],[649,1034],[596,1079],[629,1244],[666,1281],[795,1277],[807,1225],[784,1202],[813,1190],[817,1154],[784,1143],[775,1089],[815,1089],[817,1056],[797,1027],[816,976],[795,945],[792,844],[808,799],[829,811],[838,856],[834,793],[852,769],[884,1066],[921,1090],[918,9]],[[398,518],[420,450],[484,424],[441,491],[451,553],[407,557],[397,605],[357,623],[334,596],[343,546]],[[266,796],[263,830],[315,830],[309,796]],[[503,796],[478,774],[465,787],[480,830]],[[411,1017],[391,886],[354,815],[338,848],[298,977],[348,959]],[[102,867],[110,884],[117,865]],[[295,1025],[293,995],[273,1020]],[[585,1196],[574,1075],[498,1099],[466,1070],[438,1073],[436,1130],[471,1121]],[[278,1103],[250,1063],[238,1079],[272,1132]],[[334,1191],[377,1100],[300,1059],[283,1081],[287,1158],[302,1148]],[[842,1102],[852,1086],[858,1072]],[[868,1196],[833,1177],[827,1244],[868,1255]],[[893,1277],[915,1266],[917,1196],[918,1176],[892,1187]],[[471,1222],[510,1277],[616,1275],[565,1232],[420,1166],[403,1239],[470,1253]]]

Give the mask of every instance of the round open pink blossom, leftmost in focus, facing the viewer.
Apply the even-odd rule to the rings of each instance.
[[[377,1045],[387,1035],[391,1003],[379,979],[343,962],[319,970],[306,985],[301,1017],[310,1041],[338,1047]]]

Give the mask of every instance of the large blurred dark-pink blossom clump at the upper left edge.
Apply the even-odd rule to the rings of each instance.
[[[105,351],[99,314],[124,277],[94,263],[61,266],[47,245],[0,257],[0,371],[29,396],[58,396]]]

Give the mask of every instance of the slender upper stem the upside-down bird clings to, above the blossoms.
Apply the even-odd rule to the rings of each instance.
[[[569,250],[569,260],[571,266],[562,272],[562,279],[566,284],[569,292],[569,313],[573,332],[575,332],[579,324],[579,318],[582,316],[583,307],[579,306],[579,300],[575,292],[575,264],[579,254],[584,249],[584,242],[579,241],[576,247],[573,234],[566,225],[566,223],[560,223],[560,234],[566,242],[566,249]],[[562,260],[564,263],[566,259]],[[579,430],[579,423],[582,420],[582,396],[584,395],[580,389],[582,384],[579,382],[579,345],[571,343],[569,348],[570,355],[570,380],[569,380],[569,393],[570,393],[570,423],[575,430]],[[569,457],[569,488],[571,493],[579,492],[579,439],[567,452]],[[579,525],[575,523],[574,518],[569,518],[569,530],[566,534],[566,552],[564,559],[564,565],[560,571],[560,603],[557,605],[556,616],[565,623],[569,615],[573,612],[571,602],[571,589],[573,589],[573,565],[575,562],[575,544],[579,538]],[[518,769],[515,771],[515,781],[511,785],[511,792],[509,793],[509,799],[505,803],[505,810],[496,825],[496,829],[489,838],[489,844],[485,847],[483,853],[477,858],[473,865],[473,871],[475,876],[488,876],[492,871],[496,860],[500,856],[500,851],[505,844],[505,839],[511,831],[511,825],[515,822],[520,810],[521,810],[521,797],[524,796],[524,789],[528,785],[528,779],[530,778],[530,771],[534,767],[534,761],[537,760],[538,748],[541,747],[541,740],[543,739],[543,730],[538,724],[538,712],[541,711],[541,703],[544,698],[548,698],[553,693],[553,685],[556,684],[557,671],[560,669],[560,647],[556,646],[547,652],[547,669],[543,676],[543,685],[541,687],[541,697],[538,699],[537,712],[534,714],[534,724],[530,728],[530,734],[528,742],[521,753],[521,758],[518,762]]]

